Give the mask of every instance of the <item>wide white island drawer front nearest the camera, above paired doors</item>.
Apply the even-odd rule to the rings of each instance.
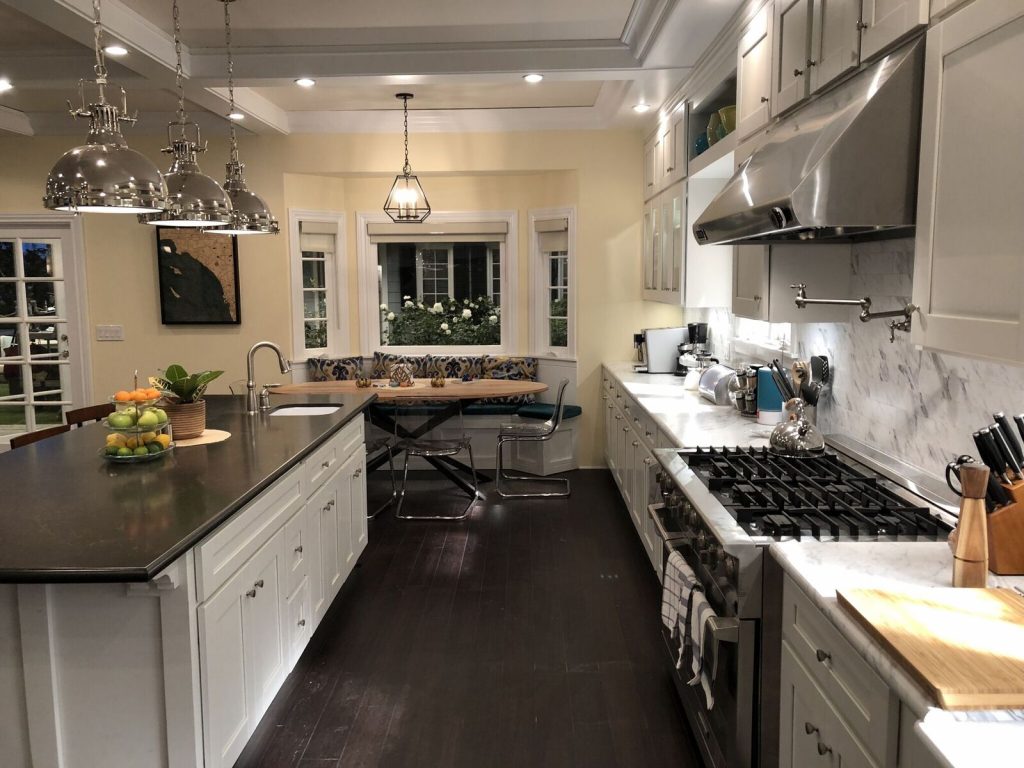
[[[302,472],[296,467],[196,547],[198,601],[216,592],[285,521],[302,509]]]

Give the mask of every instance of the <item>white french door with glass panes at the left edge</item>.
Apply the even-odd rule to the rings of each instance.
[[[0,220],[0,444],[86,404],[77,222]]]

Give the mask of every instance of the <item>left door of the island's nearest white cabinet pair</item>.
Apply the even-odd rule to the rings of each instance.
[[[245,567],[199,606],[203,745],[209,768],[231,766],[256,727],[247,688]]]

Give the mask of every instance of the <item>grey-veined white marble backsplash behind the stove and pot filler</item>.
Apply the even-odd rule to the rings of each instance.
[[[853,248],[853,296],[872,308],[910,300],[913,240]],[[794,352],[827,354],[836,372],[831,394],[818,408],[825,432],[840,432],[941,476],[946,462],[977,454],[971,433],[992,414],[1024,413],[1024,368],[915,349],[909,335],[889,342],[885,321],[801,324]]]

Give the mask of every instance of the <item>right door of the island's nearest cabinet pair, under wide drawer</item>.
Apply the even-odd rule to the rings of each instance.
[[[266,712],[288,673],[285,652],[285,531],[274,537],[249,560],[244,606],[245,654],[251,682],[251,708],[256,722]],[[255,722],[254,722],[255,725]]]

